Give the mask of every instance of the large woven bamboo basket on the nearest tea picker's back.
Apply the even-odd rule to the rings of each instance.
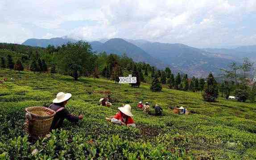
[[[46,107],[28,107],[26,110],[25,129],[34,136],[45,136],[50,132],[50,128],[55,116],[55,111]]]

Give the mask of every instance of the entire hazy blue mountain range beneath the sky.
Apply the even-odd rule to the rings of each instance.
[[[23,44],[47,47],[60,46],[77,40],[62,38],[29,39]],[[221,68],[231,62],[241,63],[243,57],[256,60],[256,45],[226,48],[194,48],[185,44],[168,44],[148,40],[128,40],[121,38],[103,39],[89,42],[93,51],[126,54],[135,61],[142,61],[163,69],[170,67],[174,73],[184,72],[190,76],[206,77],[209,72],[217,75]]]

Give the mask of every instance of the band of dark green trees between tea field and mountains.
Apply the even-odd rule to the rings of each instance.
[[[12,53],[10,53],[11,51]],[[227,99],[235,94],[239,101],[255,99],[255,85],[249,84],[248,73],[252,71],[253,63],[244,59],[239,65],[232,63],[227,69],[222,69],[223,82],[217,83],[213,74],[208,78],[189,78],[187,74],[174,75],[170,68],[164,70],[146,64],[134,62],[125,54],[107,54],[106,52],[96,53],[92,51],[91,45],[87,42],[63,44],[47,48],[30,47],[18,44],[0,44],[1,68],[10,68],[17,71],[29,70],[32,72],[50,72],[69,75],[78,80],[79,76],[92,76],[94,78],[104,77],[119,82],[120,76],[136,76],[136,84],[132,87],[139,87],[141,82],[151,83],[152,91],[161,91],[162,85],[171,89],[190,92],[202,92],[206,101],[215,101],[219,92]],[[4,54],[6,52],[6,54]],[[18,56],[13,55],[14,53]],[[4,56],[3,56],[4,55]],[[15,60],[13,60],[15,58]]]

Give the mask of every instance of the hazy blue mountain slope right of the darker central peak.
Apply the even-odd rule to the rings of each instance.
[[[226,68],[233,60],[216,57],[210,52],[193,48],[184,44],[144,43],[137,44],[153,57],[158,57],[164,63],[193,76],[207,76],[209,72],[217,75],[221,68]]]

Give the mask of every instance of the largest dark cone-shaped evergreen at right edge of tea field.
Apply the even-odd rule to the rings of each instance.
[[[206,81],[202,98],[207,102],[214,102],[218,98],[218,96],[219,96],[219,91],[218,91],[217,82],[215,81],[214,76],[210,72]]]

